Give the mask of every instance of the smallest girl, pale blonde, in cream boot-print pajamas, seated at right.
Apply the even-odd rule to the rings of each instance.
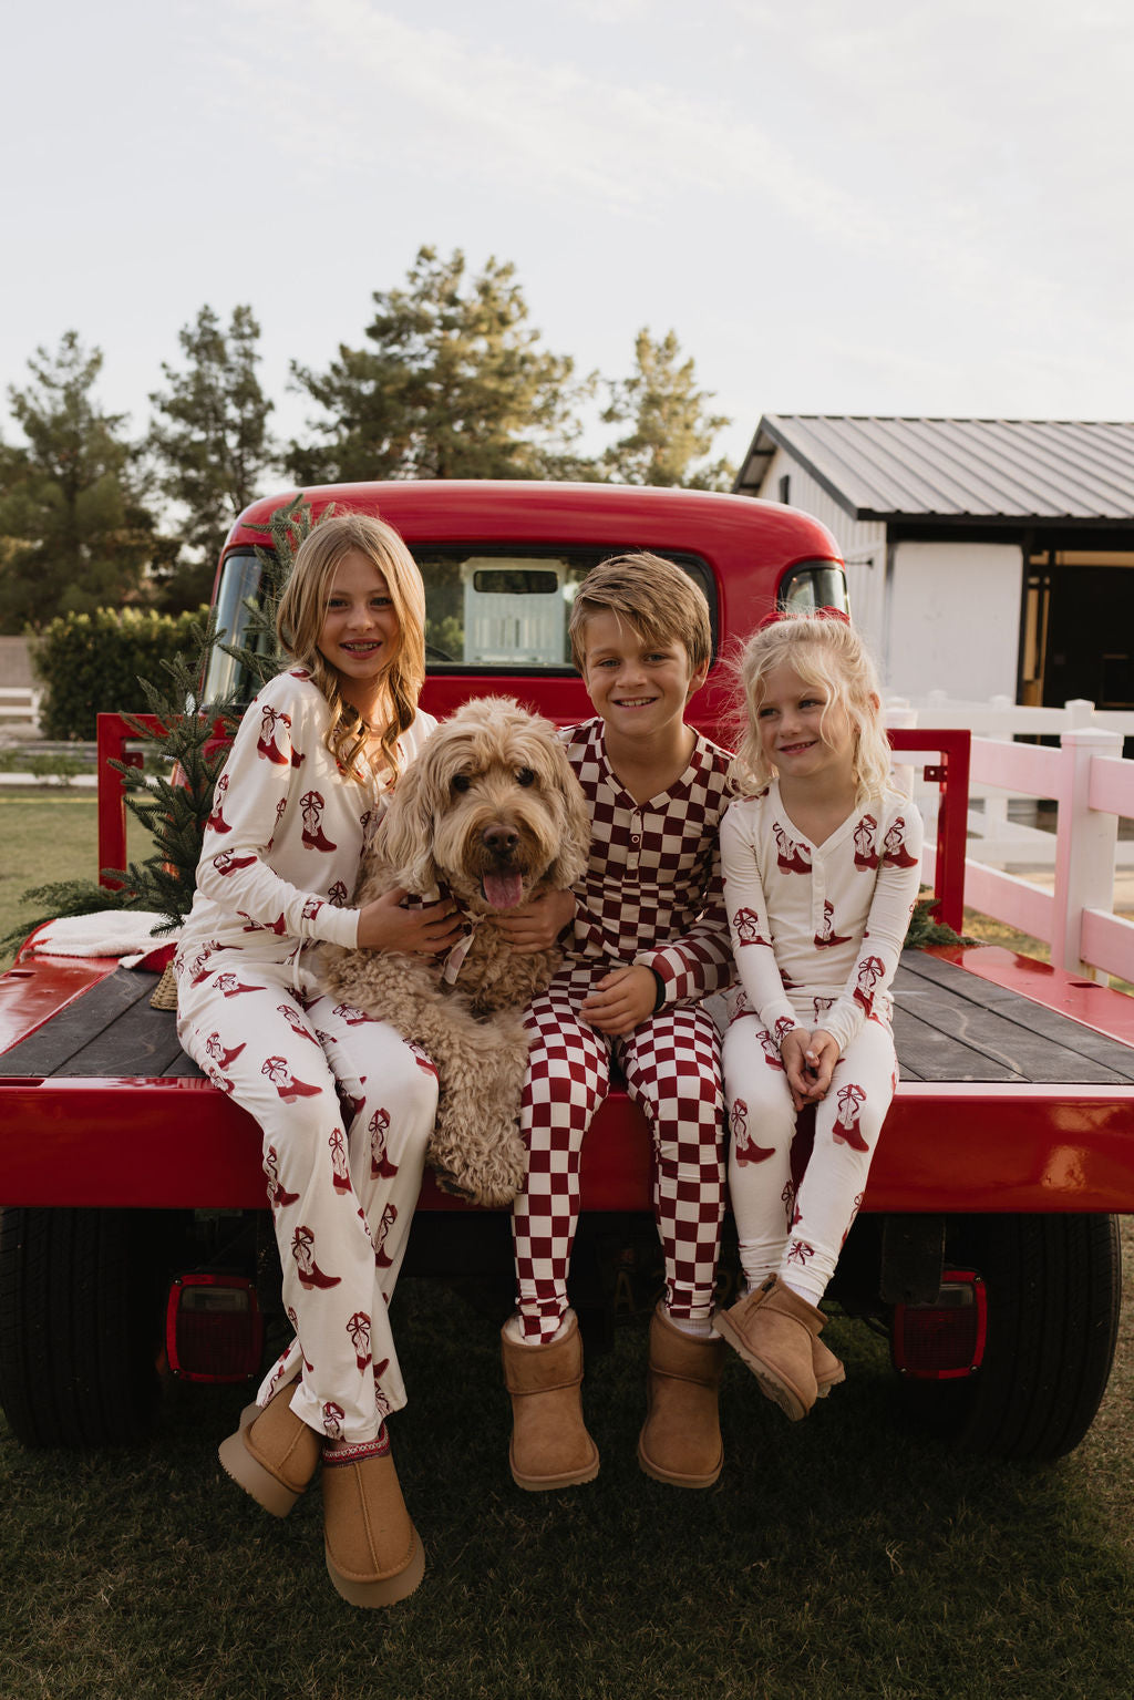
[[[724,1090],[748,1290],[712,1326],[796,1420],[843,1380],[818,1304],[894,1093],[889,984],[921,821],[891,787],[877,677],[845,615],[763,622],[740,677],[741,796],[721,824],[721,862],[741,981]],[[814,1144],[799,1176],[808,1105]]]

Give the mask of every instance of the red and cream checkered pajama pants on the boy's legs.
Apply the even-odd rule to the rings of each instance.
[[[578,1006],[609,964],[559,971],[527,1013],[530,1061],[520,1129],[527,1183],[512,1209],[517,1309],[530,1341],[551,1340],[568,1309],[583,1139],[610,1085],[610,1062],[653,1137],[653,1210],[665,1304],[680,1319],[712,1314],[724,1214],[719,1039],[700,1005],[663,1008],[627,1039],[588,1027]]]

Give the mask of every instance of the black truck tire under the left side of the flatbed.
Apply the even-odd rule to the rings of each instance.
[[[153,1433],[160,1219],[0,1212],[0,1404],[26,1447],[105,1447]]]

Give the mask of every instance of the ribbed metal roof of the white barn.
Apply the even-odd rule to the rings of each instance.
[[[777,447],[852,518],[1134,522],[1134,422],[765,413],[740,493]]]

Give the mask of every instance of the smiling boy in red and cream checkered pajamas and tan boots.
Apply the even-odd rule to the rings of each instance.
[[[709,1319],[724,1168],[719,1044],[700,1000],[733,978],[717,852],[729,756],[685,724],[711,663],[709,607],[672,561],[617,556],[583,580],[570,638],[597,719],[563,736],[593,836],[566,959],[527,1015],[529,1173],[512,1216],[517,1314],[502,1336],[510,1464],[527,1489],[598,1470],[566,1278],[580,1151],[614,1061],[651,1129],[665,1258],[638,1459],[658,1481],[709,1488],[723,1462]]]

